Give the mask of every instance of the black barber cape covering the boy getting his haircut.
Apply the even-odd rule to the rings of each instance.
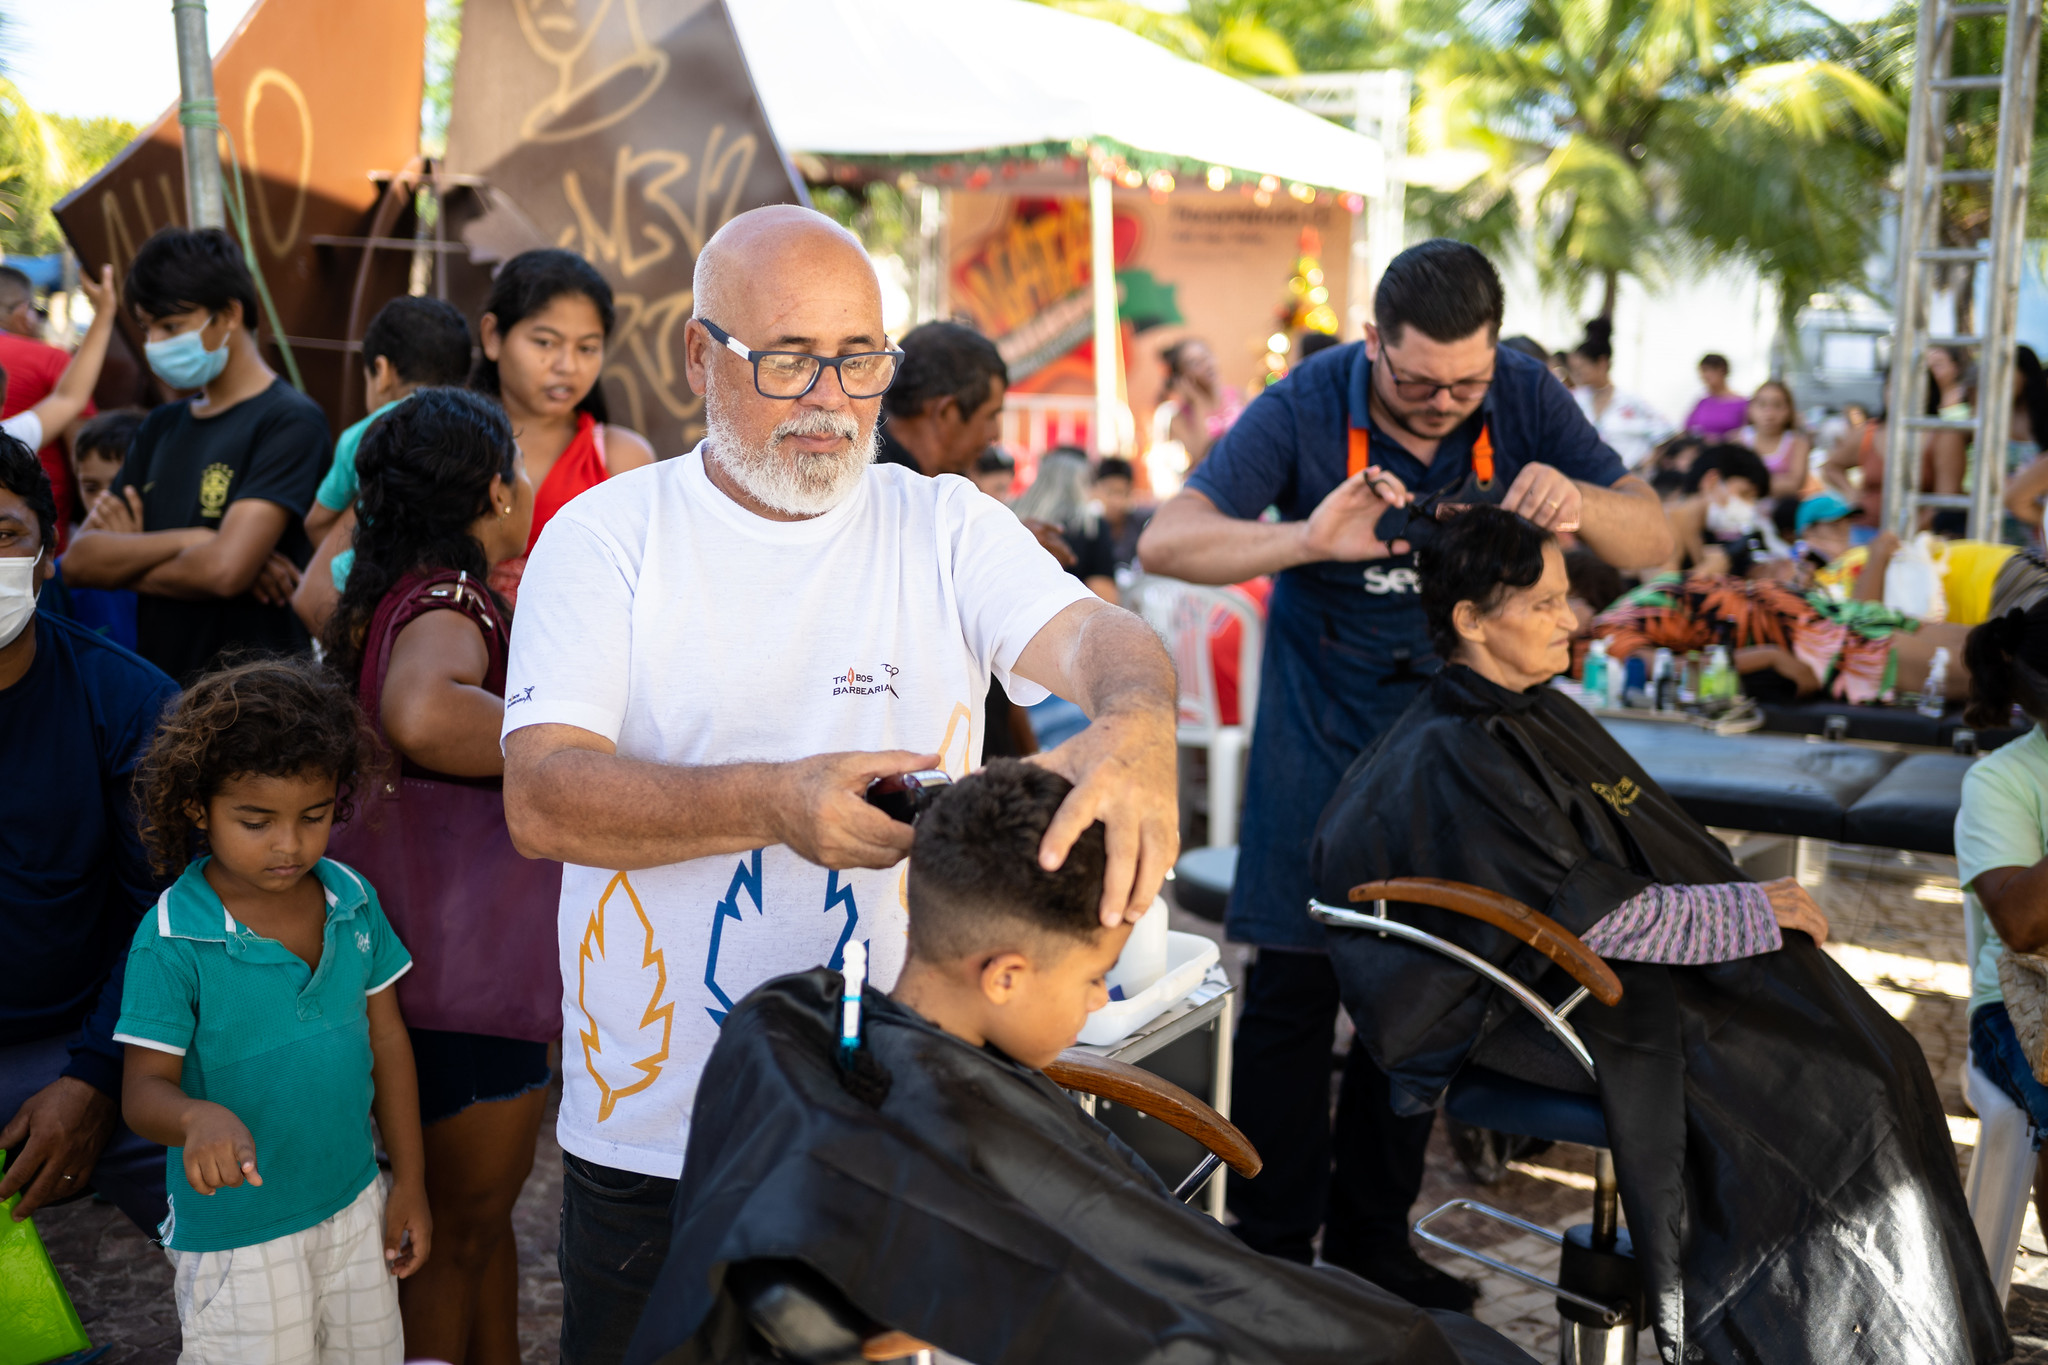
[[[752,1259],[803,1261],[975,1365],[1528,1365],[1470,1318],[1245,1248],[1044,1074],[877,990],[864,1015],[879,1109],[836,1072],[838,972],[772,980],[725,1019],[629,1365],[766,1359],[723,1291]]]

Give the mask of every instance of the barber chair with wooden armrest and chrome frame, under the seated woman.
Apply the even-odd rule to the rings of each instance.
[[[1331,929],[1376,933],[1442,954],[1491,980],[1520,1007],[1466,1058],[1444,1093],[1444,1113],[1475,1128],[1522,1134],[1544,1142],[1593,1148],[1593,1220],[1556,1234],[1477,1199],[1452,1199],[1415,1220],[1415,1236],[1556,1295],[1559,1365],[1624,1365],[1636,1359],[1645,1322],[1642,1285],[1628,1230],[1620,1226],[1620,1185],[1608,1152],[1608,1121],[1593,1083],[1593,1056],[1571,1027],[1571,1011],[1593,997],[1602,1005],[1622,999],[1622,982],[1599,956],[1561,923],[1530,907],[1464,882],[1393,878],[1366,882],[1350,892],[1352,905],[1370,913],[1309,902],[1309,913]],[[1552,1005],[1485,958],[1405,925],[1386,915],[1386,902],[1432,905],[1481,919],[1544,954],[1577,982]],[[1491,1218],[1559,1246],[1556,1279],[1509,1265],[1446,1238],[1434,1224],[1446,1214]]]

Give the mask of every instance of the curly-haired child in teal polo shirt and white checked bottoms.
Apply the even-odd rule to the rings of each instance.
[[[369,882],[322,857],[360,735],[336,677],[276,659],[199,679],[143,759],[143,843],[182,876],[135,931],[115,1038],[123,1115],[170,1148],[184,1361],[403,1359],[395,1277],[430,1236],[389,988],[412,958]]]

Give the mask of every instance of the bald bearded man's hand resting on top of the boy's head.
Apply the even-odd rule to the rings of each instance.
[[[1104,925],[1141,917],[1180,857],[1178,757],[1171,712],[1128,710],[1100,716],[1061,747],[1024,759],[1073,784],[1047,825],[1038,866],[1063,866],[1073,841],[1102,821]]]

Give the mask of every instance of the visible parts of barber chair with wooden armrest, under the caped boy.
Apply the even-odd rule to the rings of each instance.
[[[1219,1166],[1251,1179],[1266,1164],[1235,1124],[1149,1070],[1069,1048],[1044,1074],[1075,1095],[1128,1105],[1200,1142],[1208,1156],[1174,1189],[1182,1203],[1192,1203]],[[725,1279],[748,1324],[776,1357],[795,1365],[905,1359],[932,1365],[930,1345],[872,1322],[801,1261],[745,1261],[729,1267]]]

